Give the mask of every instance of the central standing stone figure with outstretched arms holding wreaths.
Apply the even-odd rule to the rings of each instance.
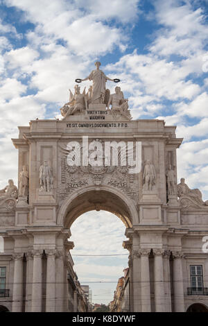
[[[85,79],[77,80],[79,82],[85,81],[85,80],[92,80],[92,98],[91,103],[105,103],[105,84],[107,80],[114,81],[115,83],[117,81],[120,81],[119,79],[111,79],[107,76],[105,76],[104,72],[99,69],[101,66],[101,62],[96,61],[95,64],[96,69],[94,69],[89,76],[87,76]],[[107,103],[106,103],[107,104]]]

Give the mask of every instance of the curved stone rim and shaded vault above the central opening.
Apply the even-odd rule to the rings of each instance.
[[[70,228],[78,216],[90,210],[112,212],[121,218],[126,228],[132,228],[132,225],[139,223],[135,202],[121,191],[109,186],[88,186],[78,189],[64,200],[57,224]]]

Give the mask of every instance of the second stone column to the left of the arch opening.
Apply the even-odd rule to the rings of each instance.
[[[45,250],[47,255],[46,312],[55,311],[55,250]]]

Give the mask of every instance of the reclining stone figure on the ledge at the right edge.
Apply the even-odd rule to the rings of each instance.
[[[185,179],[181,178],[180,183],[177,185],[177,196],[180,198],[182,196],[187,196],[192,200],[195,200],[199,205],[208,205],[208,200],[205,202],[202,200],[202,193],[199,189],[190,189],[185,184]]]

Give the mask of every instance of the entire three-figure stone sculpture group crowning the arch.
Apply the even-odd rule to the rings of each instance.
[[[85,110],[89,109],[90,104],[105,104],[107,112],[112,115],[120,114],[128,120],[132,119],[130,110],[128,110],[128,99],[124,98],[121,87],[115,87],[114,94],[110,94],[110,90],[105,88],[107,80],[113,81],[114,83],[120,80],[105,76],[104,72],[99,69],[101,62],[96,61],[95,66],[96,69],[94,69],[89,76],[84,79],[76,79],[77,83],[81,83],[85,80],[92,80],[92,85],[87,92],[85,91],[85,87],[83,93],[81,93],[78,85],[74,87],[74,94],[71,92],[71,89],[69,89],[69,102],[65,103],[60,109],[62,117],[64,117],[63,119],[73,114],[84,113]]]

